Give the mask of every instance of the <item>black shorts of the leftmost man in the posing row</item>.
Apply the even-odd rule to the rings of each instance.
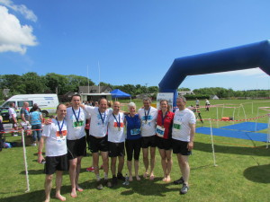
[[[55,173],[55,171],[68,170],[67,154],[59,156],[46,156],[45,161],[44,171],[47,175],[51,175]]]

